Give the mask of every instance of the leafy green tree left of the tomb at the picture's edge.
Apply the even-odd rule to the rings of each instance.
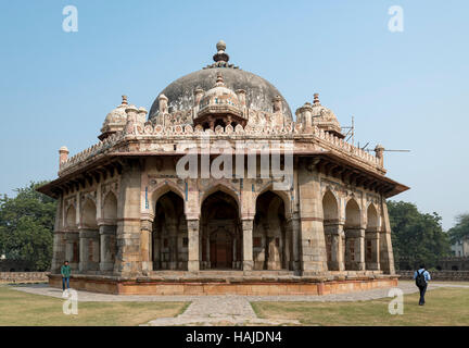
[[[23,261],[35,271],[46,271],[52,259],[53,225],[56,202],[30,183],[17,188],[16,197],[0,198],[0,253]]]

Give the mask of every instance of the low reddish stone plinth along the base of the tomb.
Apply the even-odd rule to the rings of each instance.
[[[50,286],[62,287],[60,274],[48,276]],[[310,296],[395,287],[397,278],[398,275],[384,275],[373,271],[331,272],[327,276],[300,276],[288,271],[162,271],[135,277],[76,274],[71,277],[71,287],[119,295]]]

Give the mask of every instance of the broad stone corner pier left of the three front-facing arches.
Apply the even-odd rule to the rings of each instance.
[[[117,199],[117,253],[114,273],[137,275],[141,272],[141,173],[138,160],[127,160],[123,167]]]

